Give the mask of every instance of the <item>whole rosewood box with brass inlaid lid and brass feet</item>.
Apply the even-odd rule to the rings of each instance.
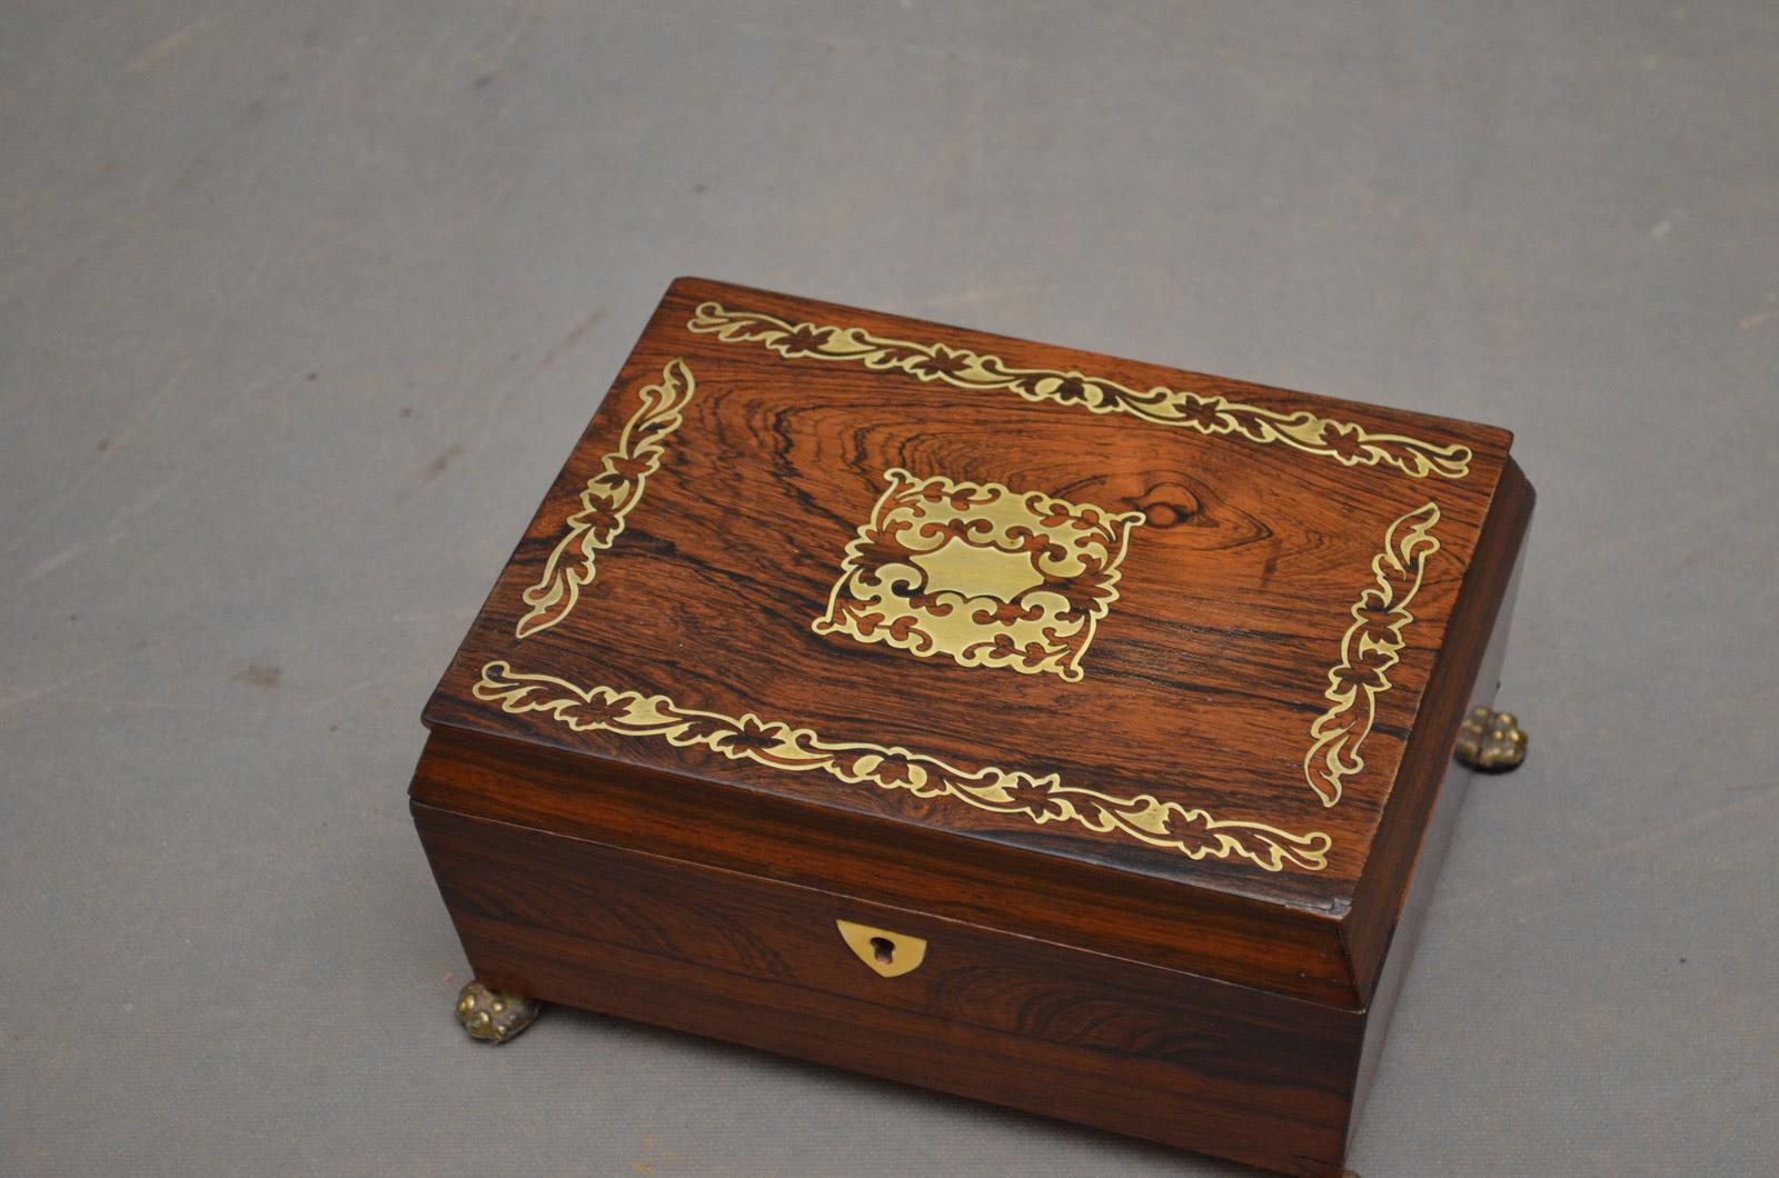
[[[1510,441],[674,281],[425,710],[457,1016],[1338,1173],[1525,751]]]

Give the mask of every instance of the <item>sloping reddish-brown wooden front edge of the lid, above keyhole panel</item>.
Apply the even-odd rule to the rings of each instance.
[[[722,867],[1176,970],[1361,1005],[1340,922],[984,838],[438,731],[411,795],[439,810]]]

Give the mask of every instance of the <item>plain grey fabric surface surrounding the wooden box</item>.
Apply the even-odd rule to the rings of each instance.
[[[1187,1174],[551,1013],[420,706],[667,279],[1519,432],[1480,783],[1352,1164],[1779,1169],[1779,7],[0,11],[0,1169]]]

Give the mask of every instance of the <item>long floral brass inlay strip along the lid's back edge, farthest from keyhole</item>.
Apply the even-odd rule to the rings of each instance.
[[[906,372],[922,381],[957,388],[1009,390],[1026,400],[1078,404],[1091,413],[1128,413],[1158,425],[1178,425],[1208,436],[1235,434],[1249,441],[1279,443],[1332,457],[1341,466],[1395,466],[1414,479],[1464,479],[1473,457],[1464,445],[1436,445],[1407,434],[1375,434],[1352,422],[1316,416],[1309,409],[1284,413],[1229,400],[1217,393],[1188,393],[1155,386],[1147,391],[1105,377],[1057,368],[1014,368],[1000,356],[945,343],[884,340],[863,327],[792,324],[761,311],[733,311],[701,303],[687,322],[690,331],[724,343],[760,343],[779,356],[811,356],[865,365],[873,372]]]

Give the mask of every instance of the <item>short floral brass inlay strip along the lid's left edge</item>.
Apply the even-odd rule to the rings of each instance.
[[[575,609],[580,591],[592,584],[592,557],[612,546],[624,530],[624,516],[642,498],[649,475],[660,470],[667,438],[680,429],[680,411],[697,383],[685,359],[671,359],[662,368],[660,384],[644,384],[637,395],[642,406],[624,422],[617,450],[605,456],[600,473],[587,479],[580,493],[580,511],[568,518],[568,534],[544,562],[537,584],[521,594],[530,612],[519,617],[514,633],[521,639],[548,630]]]

